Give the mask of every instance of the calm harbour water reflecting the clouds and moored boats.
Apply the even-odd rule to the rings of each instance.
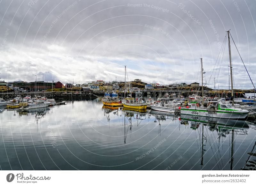
[[[160,114],[102,108],[99,99],[67,101],[31,113],[4,110],[0,168],[239,170],[255,166],[253,123],[228,128]]]

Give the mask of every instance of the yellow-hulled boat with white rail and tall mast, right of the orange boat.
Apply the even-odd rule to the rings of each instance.
[[[126,78],[126,66],[124,66],[124,97],[125,97],[125,78]],[[124,101],[122,101],[122,105],[124,108],[135,108],[135,109],[147,109],[147,103],[142,99],[142,93],[140,89],[135,91],[135,98],[132,98],[132,93],[130,93]]]

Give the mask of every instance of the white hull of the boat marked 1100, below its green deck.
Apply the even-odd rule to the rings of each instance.
[[[189,109],[181,108],[180,114],[182,115],[191,115],[195,118],[200,117],[214,117],[214,118],[225,118],[225,119],[244,119],[248,115],[249,111],[244,112],[225,112],[225,111],[207,111],[204,109]]]

